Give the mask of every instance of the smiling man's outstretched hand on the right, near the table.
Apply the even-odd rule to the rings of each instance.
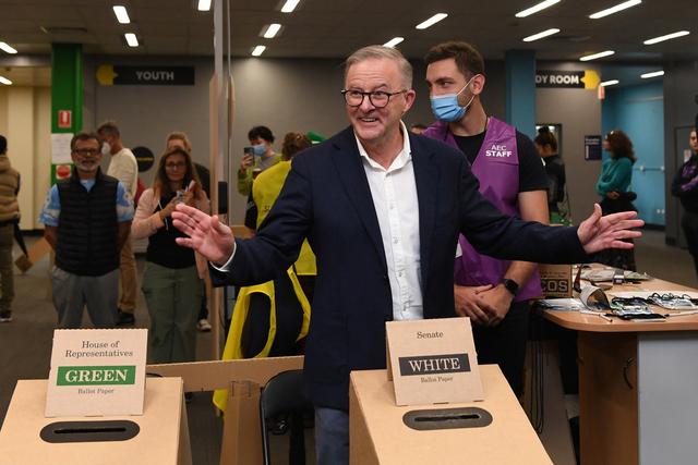
[[[639,231],[630,231],[641,228],[645,221],[635,219],[637,211],[622,211],[619,213],[601,213],[601,206],[594,204],[593,213],[579,224],[577,235],[587,254],[595,254],[606,248],[633,248],[629,242],[623,238],[636,238],[642,235]]]

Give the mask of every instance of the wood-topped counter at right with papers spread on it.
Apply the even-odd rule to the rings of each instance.
[[[658,279],[605,292],[634,290],[696,292]],[[582,464],[696,463],[698,315],[657,322],[578,311],[543,316],[578,331]]]

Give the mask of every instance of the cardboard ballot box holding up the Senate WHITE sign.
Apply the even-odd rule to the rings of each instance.
[[[482,365],[480,375],[482,402],[398,407],[386,370],[352,371],[350,463],[552,464],[500,368]],[[444,415],[444,409],[455,415]],[[470,417],[479,419],[448,429]]]

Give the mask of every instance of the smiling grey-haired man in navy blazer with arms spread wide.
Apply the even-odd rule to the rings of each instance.
[[[348,60],[342,90],[351,126],[293,159],[276,204],[249,241],[179,205],[174,225],[214,267],[215,282],[274,279],[308,237],[317,257],[304,377],[316,406],[318,463],[348,462],[349,372],[384,368],[385,321],[446,318],[454,309],[458,234],[498,258],[576,262],[642,224],[635,212],[593,215],[579,228],[503,216],[478,192],[466,158],[410,134],[411,66],[399,51],[366,47]]]

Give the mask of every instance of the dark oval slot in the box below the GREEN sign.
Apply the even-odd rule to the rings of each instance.
[[[130,420],[55,421],[46,425],[39,436],[51,443],[125,441],[140,430]]]

